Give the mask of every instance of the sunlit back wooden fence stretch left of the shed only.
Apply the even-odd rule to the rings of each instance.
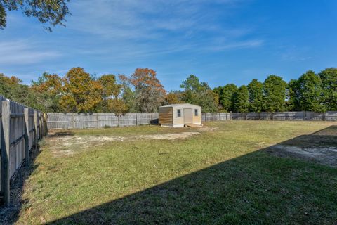
[[[158,124],[158,113],[48,113],[48,129],[87,129]]]

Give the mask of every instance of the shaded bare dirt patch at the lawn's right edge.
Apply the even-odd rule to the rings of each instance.
[[[300,158],[337,167],[337,126],[298,136],[271,146],[267,151],[281,157]]]

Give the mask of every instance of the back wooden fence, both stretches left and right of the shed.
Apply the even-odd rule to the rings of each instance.
[[[48,129],[88,129],[158,124],[158,113],[48,113]],[[203,122],[220,120],[326,120],[337,121],[337,112],[202,113]]]

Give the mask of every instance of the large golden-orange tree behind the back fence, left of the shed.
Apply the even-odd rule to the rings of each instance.
[[[70,69],[63,77],[60,106],[66,113],[92,113],[101,101],[103,87],[84,71],[83,68]]]

